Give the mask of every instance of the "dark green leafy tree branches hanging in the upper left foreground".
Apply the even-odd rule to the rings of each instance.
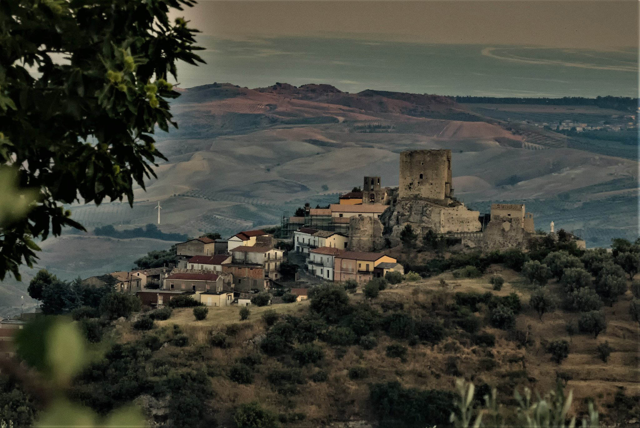
[[[38,192],[27,217],[0,225],[0,279],[33,266],[36,239],[84,227],[64,204],[133,204],[133,186],[164,156],[156,126],[172,122],[166,79],[176,62],[202,62],[195,29],[170,8],[191,0],[0,4],[0,165]]]

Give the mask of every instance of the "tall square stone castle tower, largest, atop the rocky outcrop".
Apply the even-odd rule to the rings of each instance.
[[[411,150],[400,154],[398,199],[442,199],[453,196],[451,150]]]

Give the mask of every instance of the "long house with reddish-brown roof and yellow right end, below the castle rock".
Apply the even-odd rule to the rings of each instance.
[[[334,281],[355,279],[358,283],[378,277],[375,268],[380,263],[397,263],[397,260],[380,252],[340,251],[336,254],[333,267]]]

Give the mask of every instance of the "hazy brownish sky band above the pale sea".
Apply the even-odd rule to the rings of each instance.
[[[174,13],[205,35],[343,37],[615,49],[638,45],[637,0],[215,1]]]

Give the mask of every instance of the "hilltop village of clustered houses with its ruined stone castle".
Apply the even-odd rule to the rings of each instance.
[[[341,195],[337,203],[326,208],[307,204],[304,215],[297,214],[284,218],[273,233],[241,231],[226,240],[200,236],[177,243],[175,259],[164,267],[113,272],[83,282],[102,286],[115,279],[116,290],[136,293],[150,306],[163,306],[184,294],[206,306],[247,306],[256,293],[285,288],[283,263],[292,273],[288,280],[302,275],[307,286],[321,281],[366,283],[389,272],[404,274],[390,249],[402,245],[406,235],[415,236],[417,245],[439,239],[461,251],[485,252],[527,251],[532,240],[546,236],[536,235],[533,215],[524,204],[493,204],[490,213],[479,213],[458,201],[451,150],[404,151],[399,187],[382,187],[381,177],[367,176],[362,188]],[[584,241],[571,238],[584,248]],[[307,299],[307,288],[294,287],[291,293],[298,301]],[[280,297],[271,299],[278,302]]]

